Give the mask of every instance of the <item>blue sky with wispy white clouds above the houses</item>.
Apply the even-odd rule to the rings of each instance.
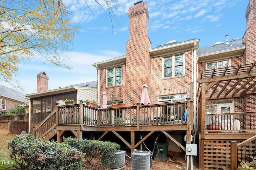
[[[49,76],[49,90],[72,84],[96,80],[93,63],[125,55],[128,41],[128,9],[139,0],[118,0],[113,11],[116,20],[98,6],[84,0],[65,0],[73,12],[72,24],[80,27],[73,39],[72,51],[63,54],[63,63],[72,67],[65,70],[41,61],[24,61],[19,64],[18,76],[24,94],[36,92],[36,75],[45,71]],[[144,0],[145,1],[145,0]],[[87,0],[86,0],[87,2]],[[104,6],[104,1],[99,0]],[[152,48],[170,40],[200,39],[199,47],[217,41],[242,39],[246,30],[245,11],[249,0],[147,0],[149,10],[149,38]],[[64,60],[70,57],[70,60]],[[12,88],[9,84],[0,82]]]

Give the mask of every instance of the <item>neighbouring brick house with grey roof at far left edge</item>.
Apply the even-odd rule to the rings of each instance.
[[[0,112],[7,112],[8,109],[24,103],[28,103],[28,100],[24,98],[24,94],[0,85]]]

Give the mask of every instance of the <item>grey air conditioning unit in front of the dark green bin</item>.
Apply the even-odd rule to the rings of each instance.
[[[150,170],[150,152],[136,150],[132,152],[132,170]]]

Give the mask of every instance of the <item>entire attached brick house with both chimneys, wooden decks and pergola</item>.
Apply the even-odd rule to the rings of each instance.
[[[243,39],[228,41],[226,35],[225,42],[200,48],[199,39],[171,40],[151,48],[146,2],[135,3],[128,10],[126,55],[92,64],[97,69],[96,100],[102,105],[105,91],[108,108],[82,103],[57,106],[49,121],[36,127],[35,134],[47,139],[56,135],[61,142],[64,133],[71,131],[78,138],[118,141],[131,152],[142,142],[152,147],[159,134],[159,142],[170,144],[168,153],[186,152],[193,134],[191,143],[197,144],[200,169],[233,167],[233,158],[238,156],[231,156],[229,142],[253,139],[245,149],[238,148],[246,154],[237,155],[255,158],[255,154],[248,155],[256,142],[255,13],[256,2],[250,0]],[[138,103],[143,84],[148,86],[150,105]],[[47,92],[26,96],[36,99]],[[116,109],[112,107],[115,103],[125,107]],[[148,119],[142,121],[145,116]],[[124,122],[128,118],[133,120]],[[213,122],[221,128],[207,129]],[[143,139],[142,133],[146,135]]]

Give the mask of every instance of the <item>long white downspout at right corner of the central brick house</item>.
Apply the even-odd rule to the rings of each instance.
[[[194,42],[194,96],[193,96],[193,122],[196,122],[196,77],[197,77],[197,64],[196,64],[196,42]],[[196,123],[194,124],[196,131]],[[194,132],[195,133],[195,132]]]

